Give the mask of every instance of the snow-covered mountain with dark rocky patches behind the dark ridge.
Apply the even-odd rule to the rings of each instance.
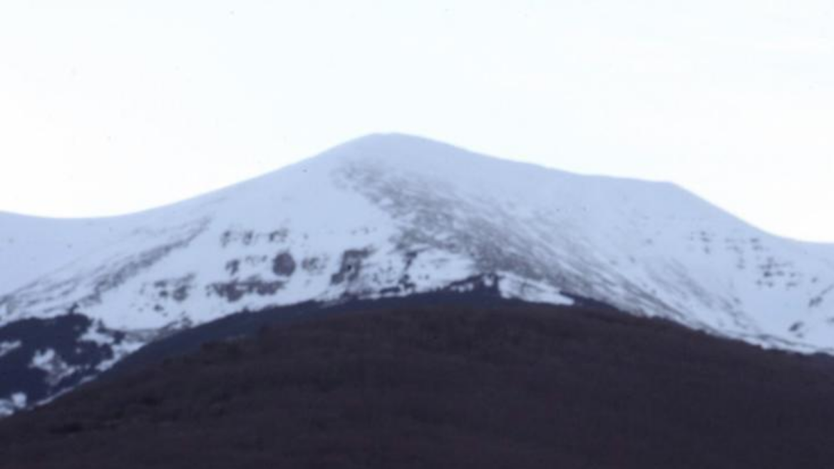
[[[0,371],[18,373],[0,379],[0,412],[241,310],[477,276],[526,300],[585,297],[760,345],[834,349],[834,245],[768,235],[672,184],[404,135],[139,214],[0,214],[0,265]],[[47,386],[28,396],[23,381]]]

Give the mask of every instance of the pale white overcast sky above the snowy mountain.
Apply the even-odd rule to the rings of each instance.
[[[0,3],[0,210],[126,213],[384,131],[834,241],[834,2]]]

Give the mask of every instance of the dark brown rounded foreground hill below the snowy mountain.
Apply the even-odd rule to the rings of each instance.
[[[261,327],[0,421],[0,467],[793,468],[834,361],[590,307],[411,305]]]

